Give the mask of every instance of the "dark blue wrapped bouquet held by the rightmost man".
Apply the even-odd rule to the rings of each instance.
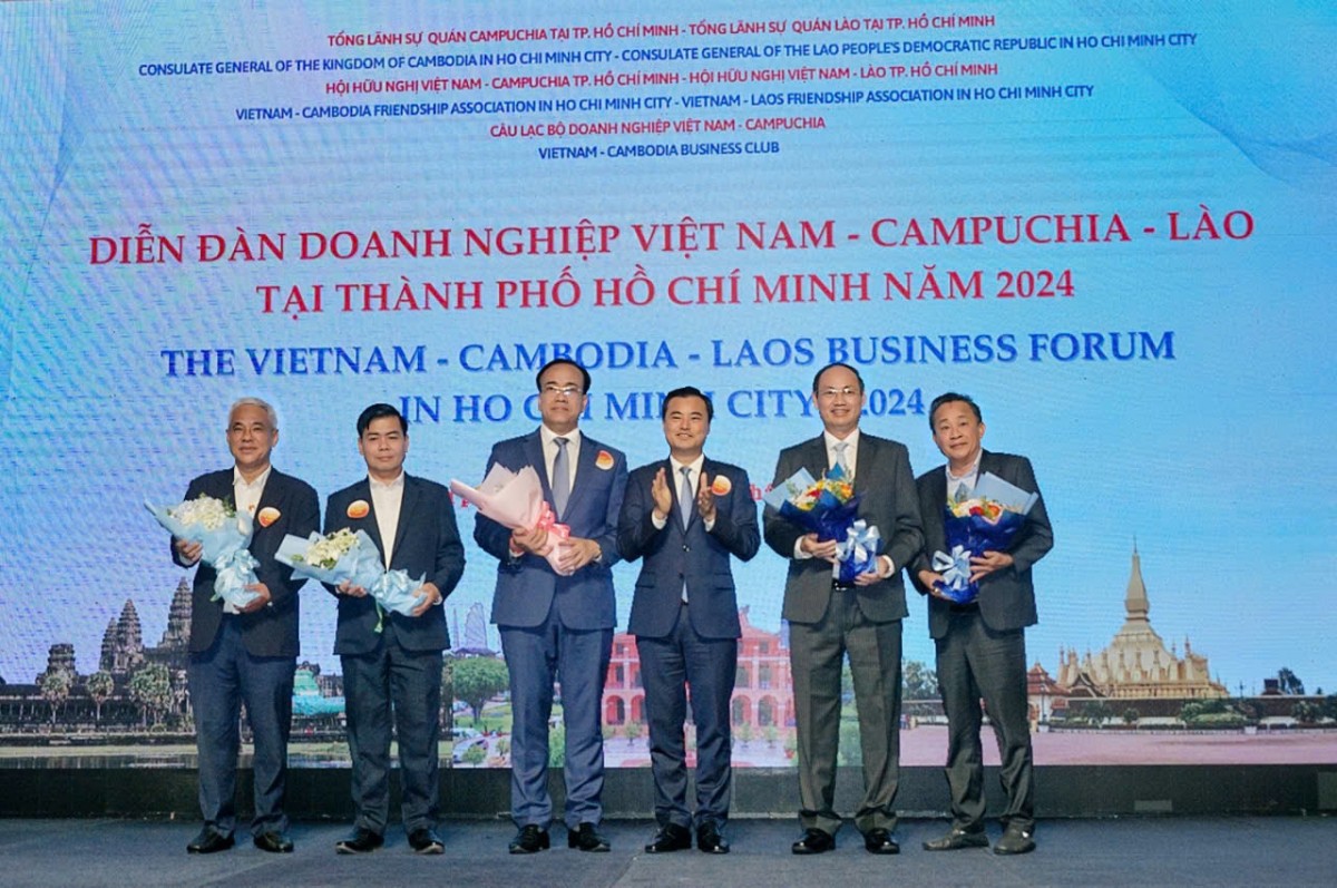
[[[980,477],[968,497],[949,499],[943,523],[951,551],[933,552],[932,559],[933,571],[943,575],[936,583],[939,591],[963,604],[979,598],[979,583],[971,582],[971,558],[1005,551],[1038,499],[1038,493],[989,472]]]

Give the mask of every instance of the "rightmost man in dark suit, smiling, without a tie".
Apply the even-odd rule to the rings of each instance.
[[[915,587],[929,596],[928,627],[937,647],[937,683],[948,724],[952,829],[941,839],[924,843],[924,848],[956,851],[989,844],[984,835],[980,748],[983,697],[997,738],[1003,789],[1008,798],[1003,837],[993,852],[1021,855],[1035,849],[1035,772],[1025,697],[1025,627],[1036,622],[1031,566],[1054,547],[1054,531],[1040,497],[1007,551],[984,552],[971,559],[971,579],[979,583],[979,598],[957,604],[943,596],[936,587],[943,575],[932,570],[929,559],[933,552],[948,550],[944,528],[948,499],[967,499],[985,472],[1028,493],[1039,495],[1040,487],[1024,456],[984,449],[984,419],[965,395],[948,392],[933,399],[929,427],[947,465],[925,472],[916,481],[925,540],[910,571]]]

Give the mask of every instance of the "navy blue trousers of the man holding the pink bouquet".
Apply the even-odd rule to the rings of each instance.
[[[548,719],[552,686],[562,682],[566,732],[564,822],[575,828],[603,820],[603,685],[612,630],[567,629],[550,611],[533,629],[499,626],[511,673],[511,817],[517,826],[552,824],[548,794]]]

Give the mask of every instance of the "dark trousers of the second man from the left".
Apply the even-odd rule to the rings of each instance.
[[[353,758],[354,826],[385,833],[390,805],[390,725],[400,753],[400,816],[404,830],[435,828],[441,741],[441,651],[400,646],[385,621],[370,654],[340,658]],[[392,713],[393,710],[393,713]]]

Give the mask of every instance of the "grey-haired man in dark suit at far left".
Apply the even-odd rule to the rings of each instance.
[[[238,719],[242,702],[255,741],[257,848],[290,852],[283,785],[287,774],[287,734],[293,724],[293,673],[297,667],[297,590],[305,580],[274,560],[286,534],[308,536],[320,523],[320,500],[310,484],[270,465],[278,443],[274,408],[254,397],[233,404],[227,415],[227,447],[235,464],[201,475],[186,499],[201,493],[233,504],[254,518],[250,554],[259,562],[257,582],[246,588],[255,598],[239,613],[214,600],[213,567],[195,571],[190,608],[190,702],[195,713],[199,752],[199,808],[205,826],[186,845],[207,855],[233,847],[237,813]],[[172,558],[182,567],[199,560],[199,543],[172,540]]]

